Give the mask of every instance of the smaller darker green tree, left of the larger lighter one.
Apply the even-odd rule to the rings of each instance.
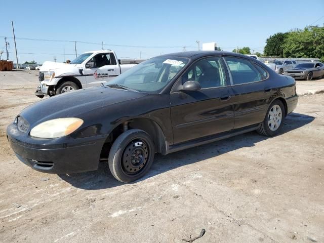
[[[264,55],[269,57],[282,57],[284,55],[284,43],[288,33],[275,33],[266,39]]]

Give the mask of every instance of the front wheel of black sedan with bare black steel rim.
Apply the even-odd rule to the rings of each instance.
[[[154,159],[154,143],[140,129],[131,129],[119,135],[111,146],[108,165],[114,178],[132,182],[144,176]]]

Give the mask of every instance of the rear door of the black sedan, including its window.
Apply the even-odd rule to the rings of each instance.
[[[224,57],[232,82],[234,129],[261,123],[271,97],[270,86],[264,80],[268,73],[261,66],[239,57]]]

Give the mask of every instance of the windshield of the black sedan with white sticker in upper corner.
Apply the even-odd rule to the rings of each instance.
[[[159,93],[188,63],[180,57],[154,57],[119,75],[109,85],[119,85],[144,93]]]

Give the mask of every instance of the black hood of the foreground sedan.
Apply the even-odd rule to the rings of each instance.
[[[34,127],[43,121],[79,117],[83,113],[145,96],[144,93],[112,89],[107,86],[77,90],[53,96],[28,106],[20,115]]]

